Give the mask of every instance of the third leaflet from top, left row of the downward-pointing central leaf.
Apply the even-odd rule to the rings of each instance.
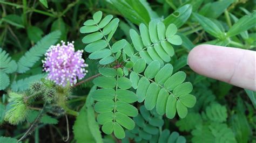
[[[106,99],[113,99],[115,96],[115,91],[112,88],[98,89],[92,92],[92,98],[96,101],[104,101]]]

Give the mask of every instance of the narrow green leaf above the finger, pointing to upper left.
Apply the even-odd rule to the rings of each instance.
[[[197,19],[197,21],[207,33],[219,39],[223,39],[225,37],[224,33],[211,19],[201,16],[197,13],[193,13],[193,16]]]

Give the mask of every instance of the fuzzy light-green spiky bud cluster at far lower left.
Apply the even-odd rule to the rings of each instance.
[[[9,97],[8,101],[11,108],[5,113],[4,119],[10,124],[17,125],[25,120],[28,107],[23,101],[24,95],[10,92]]]

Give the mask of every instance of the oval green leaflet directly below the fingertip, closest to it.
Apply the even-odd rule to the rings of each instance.
[[[167,79],[167,81],[164,83],[164,87],[167,90],[173,90],[179,84],[183,83],[185,78],[186,74],[183,71],[178,71]]]

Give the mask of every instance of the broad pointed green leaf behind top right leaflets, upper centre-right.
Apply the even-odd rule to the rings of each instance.
[[[179,28],[186,23],[188,18],[190,18],[191,12],[192,6],[190,4],[183,5],[174,11],[170,16],[166,17],[164,19],[164,24],[167,26],[173,23]]]

